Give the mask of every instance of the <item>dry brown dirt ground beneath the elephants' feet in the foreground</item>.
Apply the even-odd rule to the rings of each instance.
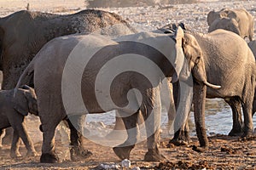
[[[160,151],[166,156],[166,161],[146,162],[143,155],[146,152],[146,143],[137,144],[131,151],[131,167],[141,169],[256,169],[256,138],[239,139],[217,135],[209,138],[210,147],[205,153],[197,153],[192,150],[193,144],[198,144],[197,139],[188,146],[173,146],[168,144],[169,139],[162,139]],[[67,147],[56,141],[57,153],[63,156]],[[40,152],[41,143],[35,144]],[[87,148],[93,152],[93,156],[84,161],[63,160],[56,164],[38,163],[39,156],[26,157],[26,150],[21,148],[22,157],[11,159],[9,157],[9,145],[4,145],[0,150],[1,169],[101,169],[102,163],[115,162],[120,165],[121,160],[114,155],[110,147],[94,144],[87,141]],[[61,156],[60,156],[61,158]]]

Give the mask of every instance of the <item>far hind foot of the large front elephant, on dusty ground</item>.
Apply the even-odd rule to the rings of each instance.
[[[70,157],[72,161],[81,161],[92,156],[90,150],[84,150],[81,146],[70,149]]]

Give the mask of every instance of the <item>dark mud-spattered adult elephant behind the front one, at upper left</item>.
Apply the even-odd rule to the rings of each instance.
[[[113,32],[101,30],[117,26]],[[3,89],[15,88],[26,66],[46,42],[64,35],[98,31],[102,34],[124,35],[135,30],[117,14],[86,9],[76,14],[47,14],[22,10],[0,19],[0,70]],[[29,82],[32,86],[32,82]],[[9,133],[8,133],[8,135]],[[7,141],[10,138],[6,138]],[[0,143],[1,138],[0,138]],[[9,143],[9,142],[7,142]]]

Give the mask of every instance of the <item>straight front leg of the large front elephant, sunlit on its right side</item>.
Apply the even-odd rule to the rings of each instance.
[[[141,111],[144,116],[144,122],[147,133],[148,152],[144,156],[144,161],[161,161],[165,156],[160,155],[160,91],[154,88],[152,91],[154,99],[143,102]]]

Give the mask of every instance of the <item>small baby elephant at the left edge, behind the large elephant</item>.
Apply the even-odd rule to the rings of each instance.
[[[26,156],[36,156],[32,140],[26,132],[24,117],[28,112],[38,116],[37,97],[33,88],[19,88],[14,96],[14,89],[0,91],[0,135],[4,128],[13,127],[14,136],[11,145],[11,157],[20,156],[20,138],[26,145]]]

